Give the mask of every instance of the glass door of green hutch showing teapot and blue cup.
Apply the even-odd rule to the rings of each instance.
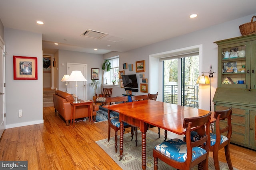
[[[221,46],[218,53],[218,86],[250,88],[250,42]]]

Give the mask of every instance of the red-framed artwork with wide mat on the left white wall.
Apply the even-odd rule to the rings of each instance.
[[[37,58],[13,56],[14,80],[37,80]]]

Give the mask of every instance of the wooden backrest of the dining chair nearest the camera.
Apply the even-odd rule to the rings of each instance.
[[[204,147],[207,154],[210,150],[210,119],[212,112],[200,117],[190,117],[184,118],[183,128],[186,128],[186,143],[187,143],[187,160],[186,162],[191,162],[192,160],[192,148],[193,147]],[[198,141],[191,141],[191,129],[198,127]]]

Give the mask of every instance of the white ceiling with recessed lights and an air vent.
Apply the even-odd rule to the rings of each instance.
[[[0,19],[4,27],[42,33],[43,53],[105,54],[249,16],[255,6],[256,0],[0,0]],[[193,13],[198,17],[190,19]],[[81,36],[86,29],[108,35]]]

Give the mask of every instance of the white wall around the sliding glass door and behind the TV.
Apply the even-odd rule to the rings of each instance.
[[[212,98],[213,98],[214,92],[217,88],[217,68],[218,68],[218,55],[217,55],[218,46],[214,43],[214,41],[241,36],[239,25],[250,21],[252,16],[253,15],[250,15],[244,18],[238,18],[236,20],[228,21],[226,23],[222,23],[219,25],[213,25],[212,27],[201,29],[199,31],[195,31],[186,35],[172,38],[172,39],[168,39],[166,41],[161,41],[159,43],[147,45],[145,47],[134,49],[125,53],[117,53],[117,52],[108,53],[106,55],[103,55],[103,58],[108,59],[110,57],[120,55],[120,59],[119,59],[120,65],[122,63],[135,64],[136,61],[145,60],[146,72],[144,74],[145,74],[145,78],[149,78],[151,77],[149,75],[150,73],[149,56],[150,55],[153,55],[156,53],[162,53],[165,51],[182,49],[182,48],[195,46],[195,45],[202,45],[202,70],[200,70],[200,72],[210,71],[210,64],[212,64],[212,71],[216,72],[216,74],[214,74],[214,77],[212,78]],[[172,31],[171,28],[170,28],[170,31]],[[154,66],[158,67],[158,63],[150,63],[150,65],[152,67]],[[122,69],[120,68],[120,70]],[[125,74],[133,74],[133,73],[136,73],[135,69],[133,72],[126,72],[125,70]],[[137,75],[138,74],[139,73],[137,73]],[[153,80],[150,79],[149,81],[151,82]],[[139,84],[141,82],[142,82],[141,80],[138,80]],[[162,82],[159,82],[159,83],[162,83]],[[149,90],[152,89],[152,87],[150,87],[150,84],[148,89]],[[121,88],[117,90],[119,91],[119,93],[122,92]],[[149,92],[154,93],[151,91]],[[204,94],[202,96],[202,109],[209,110],[210,87],[202,88],[200,92]],[[137,93],[137,95],[140,95],[140,94],[143,94],[143,93]],[[212,110],[213,110],[213,104],[212,104]]]

